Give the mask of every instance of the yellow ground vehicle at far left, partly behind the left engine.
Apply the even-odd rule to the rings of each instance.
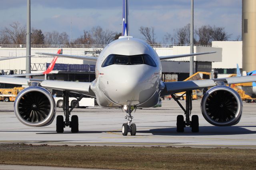
[[[22,91],[23,87],[14,87],[8,89],[0,89],[0,101],[15,101],[16,96],[20,91]]]

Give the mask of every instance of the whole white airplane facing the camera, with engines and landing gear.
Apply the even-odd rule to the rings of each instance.
[[[99,57],[75,56],[64,54],[38,53],[68,57],[96,62],[96,79],[93,82],[69,82],[17,77],[0,77],[0,83],[29,85],[22,90],[14,102],[14,112],[24,125],[32,127],[47,126],[52,123],[56,113],[56,103],[46,89],[63,91],[64,115],[56,118],[56,132],[63,132],[64,127],[71,127],[72,132],[78,132],[78,117],[72,115],[70,121],[68,98],[69,93],[79,93],[96,97],[97,103],[106,108],[120,108],[126,112],[127,123],[122,125],[122,134],[128,132],[136,135],[136,125],[132,123],[132,111],[137,108],[153,107],[161,96],[172,95],[184,111],[177,116],[177,132],[183,132],[184,127],[191,127],[192,132],[199,131],[198,116],[193,115],[192,90],[212,87],[208,90],[201,103],[202,114],[206,121],[216,126],[236,125],[242,115],[242,100],[238,93],[225,84],[256,81],[256,76],[229,77],[196,81],[161,81],[162,67],[160,60],[202,55],[194,53],[159,57],[156,51],[146,42],[129,36],[128,5],[123,1],[122,36],[101,51]],[[173,95],[186,91],[186,107],[184,108]],[[76,104],[74,105],[76,106]]]

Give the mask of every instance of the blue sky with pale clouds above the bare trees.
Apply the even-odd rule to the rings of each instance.
[[[142,38],[140,26],[154,27],[157,42],[190,23],[190,0],[128,0],[130,35]],[[0,29],[26,24],[27,0],[0,0]],[[67,32],[72,39],[101,26],[122,30],[122,0],[31,0],[31,27],[42,32]],[[224,27],[230,40],[241,36],[242,0],[194,0],[194,27]]]

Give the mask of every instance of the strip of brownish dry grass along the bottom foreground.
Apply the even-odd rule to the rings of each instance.
[[[256,169],[256,150],[0,144],[0,164],[109,169]]]

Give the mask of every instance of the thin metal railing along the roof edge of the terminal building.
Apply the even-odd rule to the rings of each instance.
[[[150,44],[153,48],[172,48],[173,46],[189,46],[188,44]],[[104,48],[99,44],[31,44],[32,48]],[[212,45],[195,45],[200,47],[212,47]],[[0,44],[0,48],[26,48],[26,44]]]

